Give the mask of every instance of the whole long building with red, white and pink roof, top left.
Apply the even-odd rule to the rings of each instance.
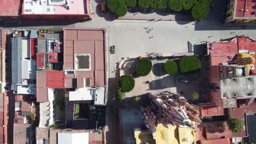
[[[90,19],[89,0],[0,1],[3,20],[84,20]]]

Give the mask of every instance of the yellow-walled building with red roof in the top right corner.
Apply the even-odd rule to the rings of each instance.
[[[229,0],[226,22],[256,22],[255,2],[251,0]]]

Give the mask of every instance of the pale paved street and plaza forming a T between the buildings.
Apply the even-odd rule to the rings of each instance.
[[[108,46],[115,45],[116,48],[116,53],[109,54],[108,56],[109,98],[106,129],[109,129],[109,132],[107,133],[107,142],[111,144],[118,143],[118,101],[114,100],[117,93],[118,80],[116,79],[116,72],[113,72],[117,68],[118,58],[124,56],[139,56],[147,52],[188,52],[188,41],[192,44],[199,44],[205,41],[216,41],[222,38],[230,38],[235,35],[249,35],[256,39],[256,30],[254,30],[254,27],[224,27],[221,26],[220,19],[215,19],[214,17],[199,23],[186,21],[106,21],[101,14],[98,14],[98,10],[96,11],[94,9],[96,8],[97,3],[95,1],[91,2],[92,13],[94,13],[92,15],[94,20],[92,21],[73,23],[65,26],[46,26],[53,24],[42,22],[20,22],[5,25],[4,28],[40,29],[62,27],[104,27],[107,29]],[[99,1],[97,2],[100,3]],[[221,10],[219,12],[218,11],[219,9],[216,6],[211,10],[210,15],[217,14],[216,17],[221,15]],[[148,29],[145,29],[146,27],[151,29],[148,33]]]

